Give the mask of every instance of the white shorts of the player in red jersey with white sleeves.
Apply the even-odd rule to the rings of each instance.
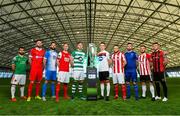
[[[61,83],[69,83],[69,72],[59,71],[57,81]]]

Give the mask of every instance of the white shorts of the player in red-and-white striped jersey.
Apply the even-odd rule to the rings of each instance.
[[[113,73],[113,84],[125,84],[123,73]]]

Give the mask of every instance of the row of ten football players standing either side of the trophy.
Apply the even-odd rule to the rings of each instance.
[[[51,82],[52,98],[59,101],[60,84],[63,85],[64,99],[70,99],[68,96],[68,83],[69,77],[69,65],[73,68],[73,82],[72,82],[72,95],[71,99],[75,98],[75,93],[78,90],[79,98],[85,100],[83,95],[83,82],[84,82],[84,59],[86,57],[83,52],[82,42],[77,43],[77,49],[70,54],[68,52],[68,44],[63,44],[63,50],[59,53],[56,52],[56,43],[50,44],[49,50],[45,51],[42,48],[42,41],[36,41],[36,47],[31,49],[29,59],[24,56],[24,48],[20,47],[18,55],[12,60],[12,70],[14,75],[11,80],[11,101],[15,102],[16,86],[20,86],[20,93],[22,99],[31,101],[31,94],[33,85],[36,85],[35,99],[42,99],[46,101],[46,89],[49,82]],[[142,96],[146,98],[146,83],[150,85],[150,92],[152,94],[152,101],[161,99],[160,95],[160,83],[163,86],[164,98],[163,101],[167,101],[167,86],[164,77],[165,66],[168,63],[166,54],[160,50],[158,43],[153,44],[152,54],[146,53],[146,47],[140,46],[140,55],[133,51],[131,43],[127,44],[127,52],[122,53],[119,51],[118,45],[114,46],[114,53],[111,55],[105,50],[105,43],[101,42],[99,45],[100,52],[98,57],[98,70],[101,94],[99,99],[105,99],[109,101],[110,95],[110,80],[109,80],[109,67],[113,68],[113,84],[115,96],[114,99],[119,97],[119,85],[121,85],[122,99],[129,99],[130,82],[132,81],[135,91],[135,99],[139,99],[138,85],[137,85],[137,66],[140,71],[140,81],[142,83]],[[24,86],[26,83],[26,69],[27,64],[30,64],[28,97],[24,95]],[[57,66],[59,68],[56,73]],[[153,77],[156,86],[157,96],[155,97],[155,91],[153,86],[151,68],[153,69]],[[40,97],[40,83],[42,80],[43,70],[45,72],[45,82],[42,86],[42,97]],[[57,77],[57,79],[56,79]],[[57,83],[56,83],[57,81]],[[55,85],[56,84],[56,85]],[[104,94],[106,86],[106,95]]]

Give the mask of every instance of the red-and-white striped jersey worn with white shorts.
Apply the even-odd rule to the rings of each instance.
[[[111,56],[113,62],[113,73],[124,73],[124,61],[125,56],[121,52],[112,54]]]

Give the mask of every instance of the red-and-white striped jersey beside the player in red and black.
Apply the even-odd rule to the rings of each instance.
[[[147,53],[143,53],[139,56],[138,61],[140,75],[151,75],[150,58],[151,55]]]

